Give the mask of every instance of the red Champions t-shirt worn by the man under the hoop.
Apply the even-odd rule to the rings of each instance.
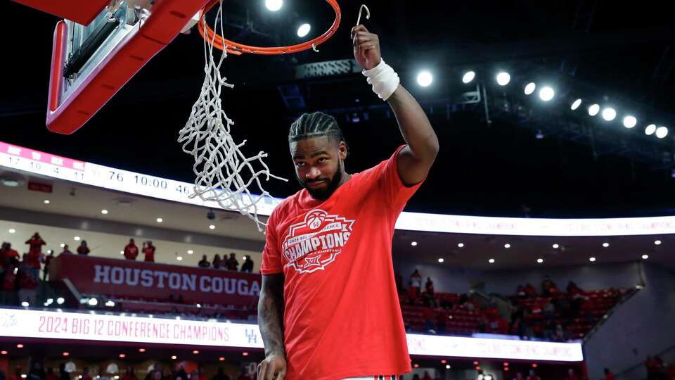
[[[326,201],[306,189],[269,217],[262,274],[284,274],[285,379],[337,380],[411,371],[392,266],[406,187],[396,153]]]

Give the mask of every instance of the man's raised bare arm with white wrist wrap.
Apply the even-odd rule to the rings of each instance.
[[[382,68],[380,39],[377,34],[368,32],[364,25],[352,28],[354,58],[368,76],[380,97],[389,102],[396,115],[401,135],[408,146],[397,157],[397,167],[401,182],[413,185],[422,182],[427,176],[438,153],[438,137],[419,103],[398,84],[396,74],[391,68]],[[390,87],[390,88],[388,88]]]

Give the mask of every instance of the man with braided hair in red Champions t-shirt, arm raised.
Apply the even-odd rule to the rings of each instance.
[[[407,144],[349,174],[347,144],[333,117],[305,113],[291,125],[290,153],[304,189],[274,209],[266,228],[258,306],[265,359],[258,379],[398,379],[411,371],[392,237],[436,158],[438,139],[380,58],[378,36],[358,25],[352,42],[356,62],[388,101]]]

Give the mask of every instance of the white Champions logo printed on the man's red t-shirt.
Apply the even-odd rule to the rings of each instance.
[[[298,273],[323,270],[342,253],[354,220],[314,209],[304,220],[291,224],[281,244],[288,265]]]

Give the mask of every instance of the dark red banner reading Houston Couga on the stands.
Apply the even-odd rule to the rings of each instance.
[[[132,260],[60,255],[50,280],[70,279],[80,293],[116,298],[174,300],[186,304],[250,306],[257,302],[260,274]]]

